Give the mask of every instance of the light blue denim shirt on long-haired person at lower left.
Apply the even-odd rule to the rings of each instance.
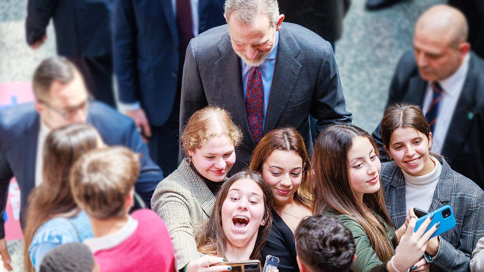
[[[35,271],[40,271],[40,264],[45,254],[58,245],[69,242],[82,242],[92,238],[91,222],[86,212],[81,211],[75,217],[56,217],[39,227],[29,247],[29,256]]]

